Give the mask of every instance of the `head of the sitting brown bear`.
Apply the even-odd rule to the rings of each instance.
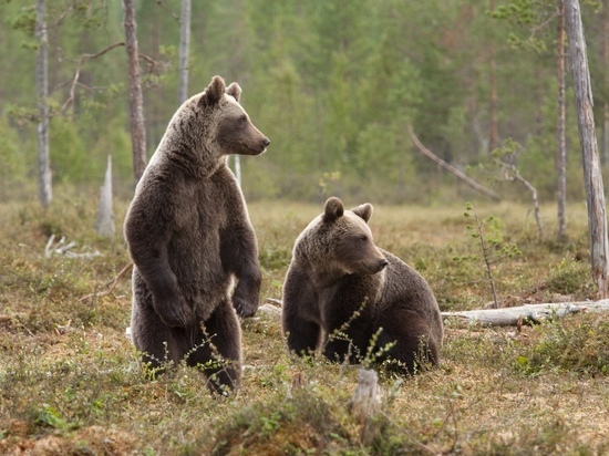
[[[331,278],[382,271],[389,261],[372,239],[368,226],[371,216],[372,205],[368,203],[345,210],[339,198],[331,197],[323,214],[297,240],[295,256],[308,262],[313,272]]]

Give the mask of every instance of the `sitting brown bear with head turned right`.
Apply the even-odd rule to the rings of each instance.
[[[332,197],[300,234],[283,283],[283,334],[291,352],[321,346],[341,362],[361,362],[378,334],[374,352],[389,350],[373,361],[414,373],[440,360],[440,309],[419,272],[374,245],[371,216],[370,204],[345,210]]]

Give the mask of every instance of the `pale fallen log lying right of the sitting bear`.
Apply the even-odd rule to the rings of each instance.
[[[541,323],[571,313],[609,311],[609,299],[543,304],[525,304],[502,309],[477,309],[441,312],[443,318],[456,318],[483,327],[516,327],[520,323]]]

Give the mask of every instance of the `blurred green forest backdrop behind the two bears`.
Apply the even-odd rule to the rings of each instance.
[[[609,163],[607,1],[582,4],[599,152]],[[136,2],[148,157],[178,104],[178,0]],[[37,193],[35,10],[0,2],[0,197]],[[95,195],[112,155],[114,187],[133,195],[124,46],[117,0],[48,4],[53,185]],[[557,2],[548,0],[195,1],[189,94],[215,74],[244,89],[241,102],[271,139],[241,160],[249,201],[427,205],[475,197],[419,154],[438,157],[509,199],[497,148],[541,201],[557,191]],[[567,70],[570,66],[567,65]],[[585,200],[570,71],[567,71],[567,198]],[[515,143],[514,143],[515,142]],[[516,144],[516,146],[514,146]],[[505,155],[504,155],[505,159]]]

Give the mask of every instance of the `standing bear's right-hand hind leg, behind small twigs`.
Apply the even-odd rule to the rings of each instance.
[[[196,329],[196,345],[187,364],[199,367],[209,388],[224,394],[241,383],[241,328],[230,301],[223,301],[211,317]]]

